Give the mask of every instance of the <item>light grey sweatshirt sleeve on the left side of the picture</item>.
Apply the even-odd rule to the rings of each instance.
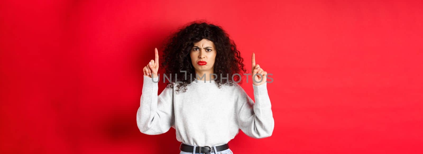
[[[144,76],[137,126],[140,132],[147,135],[159,135],[168,132],[170,127],[175,128],[173,88],[165,88],[157,96],[158,80],[159,77]]]

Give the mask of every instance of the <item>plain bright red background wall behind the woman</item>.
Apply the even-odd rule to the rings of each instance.
[[[274,82],[271,137],[235,154],[422,153],[421,0],[3,0],[0,153],[179,153],[136,125],[142,68],[195,19]],[[159,71],[159,73],[163,71]],[[253,97],[252,83],[242,87]],[[159,85],[162,91],[164,84]]]

